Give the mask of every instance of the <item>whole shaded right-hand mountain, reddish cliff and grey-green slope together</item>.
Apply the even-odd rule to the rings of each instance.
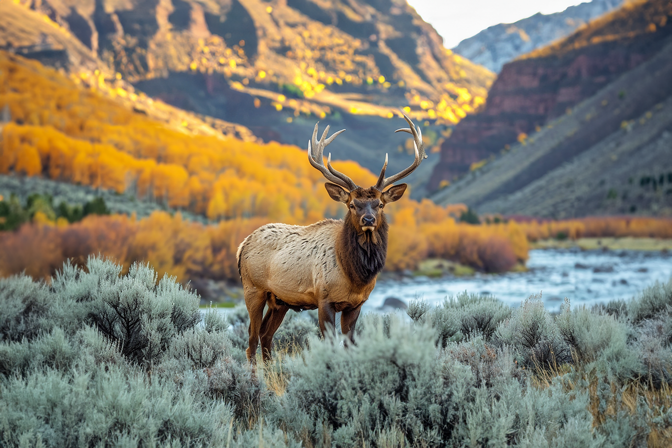
[[[462,178],[431,198],[505,215],[672,215],[670,19],[667,2],[626,5],[505,65],[442,147],[435,185]]]

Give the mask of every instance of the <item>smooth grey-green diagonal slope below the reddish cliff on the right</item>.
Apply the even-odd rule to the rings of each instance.
[[[480,213],[672,216],[672,39],[505,154],[437,192]]]

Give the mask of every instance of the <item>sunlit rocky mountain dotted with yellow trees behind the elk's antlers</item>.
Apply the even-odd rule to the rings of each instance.
[[[405,150],[405,139],[392,132],[400,122],[389,120],[399,107],[429,125],[427,143],[435,145],[446,126],[485,102],[494,78],[446,50],[406,0],[25,3],[0,6],[0,46],[59,51],[54,65],[71,73],[83,65],[84,56],[71,50],[76,47],[101,64],[106,79],[120,78],[165,103],[241,124],[264,141],[305,147],[315,122],[325,120],[350,131],[339,137],[335,157],[376,171],[385,152]],[[13,43],[25,20],[19,8],[40,14],[55,31]],[[5,21],[5,9],[17,17]],[[60,44],[51,37],[58,33],[77,42]],[[410,157],[390,157],[388,169],[403,169]]]

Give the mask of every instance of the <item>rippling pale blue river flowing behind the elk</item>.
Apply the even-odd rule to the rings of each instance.
[[[572,307],[628,300],[656,281],[672,277],[672,253],[661,251],[581,251],[537,249],[530,251],[527,272],[483,274],[468,277],[408,277],[378,281],[363,312],[380,310],[386,298],[405,303],[421,299],[440,304],[460,292],[493,295],[511,305],[541,294],[551,312],[564,298]]]

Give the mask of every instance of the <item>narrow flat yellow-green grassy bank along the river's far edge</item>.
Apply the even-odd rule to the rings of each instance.
[[[573,247],[578,247],[583,251],[595,251],[597,249],[612,251],[672,251],[672,239],[623,236],[620,238],[577,238],[576,240],[551,238],[530,242],[530,249],[571,249]]]

